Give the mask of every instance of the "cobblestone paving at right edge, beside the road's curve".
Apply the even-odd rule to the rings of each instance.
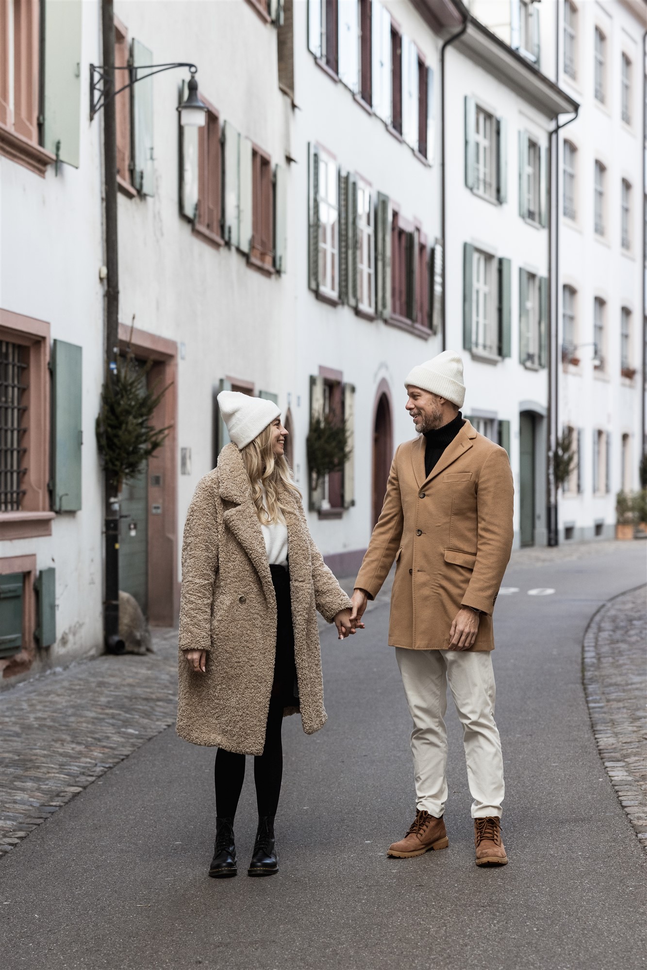
[[[583,679],[597,750],[647,850],[647,587],[610,599],[584,637]]]

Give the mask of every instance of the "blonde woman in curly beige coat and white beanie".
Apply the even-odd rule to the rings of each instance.
[[[281,727],[323,727],[316,609],[339,638],[355,632],[346,596],[310,537],[271,401],[218,396],[230,444],[190,503],[182,550],[178,733],[216,753],[216,846],[209,875],[236,875],[233,821],[254,755],[258,829],[250,876],[279,871],[274,816]]]

